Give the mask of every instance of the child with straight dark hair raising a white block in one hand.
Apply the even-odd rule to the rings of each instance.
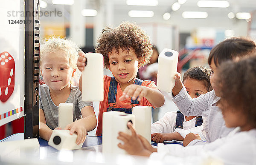
[[[215,71],[218,70],[219,65],[227,60],[238,60],[239,58],[250,56],[256,52],[256,43],[240,37],[233,37],[222,41],[217,46],[212,48],[208,64],[212,70],[211,85],[213,90],[207,94],[203,94],[198,98],[192,99],[187,93],[186,88],[180,80],[180,74],[175,76],[176,83],[172,89],[174,96],[173,101],[179,110],[186,116],[200,116],[203,117],[202,134],[206,142],[213,142],[214,140],[226,137],[233,128],[225,126],[221,111],[218,108],[217,102],[220,99],[215,91],[215,84],[212,80],[216,77]],[[183,140],[183,145],[200,145],[205,142],[201,137],[195,134],[189,134]]]

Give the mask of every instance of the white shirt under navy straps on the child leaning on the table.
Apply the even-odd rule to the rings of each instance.
[[[177,112],[167,112],[164,114],[163,118],[159,119],[157,122],[154,122],[151,125],[151,134],[154,133],[170,133],[170,132],[178,132],[183,138],[186,137],[189,132],[193,132],[194,134],[199,134],[201,138],[204,140],[205,138],[201,134],[202,126],[195,127],[195,118],[186,121],[185,117],[183,120],[183,129],[176,128],[176,117]]]

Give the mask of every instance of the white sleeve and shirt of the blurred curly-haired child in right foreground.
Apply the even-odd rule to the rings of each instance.
[[[172,164],[172,162],[201,164],[205,163],[207,158],[211,158],[220,160],[225,165],[255,165],[256,129],[240,131],[237,127],[227,137],[205,145],[183,147],[158,143],[157,152],[152,153],[150,158],[161,160],[164,164]]]

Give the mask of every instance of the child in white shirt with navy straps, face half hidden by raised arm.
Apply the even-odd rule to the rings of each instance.
[[[183,84],[190,97],[199,97],[212,90],[210,83],[211,70],[206,67],[194,67],[188,69],[183,76]],[[151,125],[151,140],[163,142],[171,140],[183,140],[193,128],[193,133],[202,130],[202,117],[187,117],[180,111],[168,112],[164,117]],[[202,135],[201,135],[202,136]]]

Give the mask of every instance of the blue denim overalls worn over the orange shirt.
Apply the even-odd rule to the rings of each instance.
[[[137,79],[135,80],[134,84],[141,85],[143,83],[143,80]],[[125,112],[126,114],[132,114],[132,108],[114,108],[114,105],[116,104],[116,91],[117,91],[117,81],[115,77],[111,77],[110,84],[109,84],[109,91],[108,91],[108,108],[107,111],[119,111],[119,112]],[[137,97],[138,98],[138,97]],[[131,105],[132,107],[134,105],[140,105],[140,102],[137,100],[131,99]],[[113,103],[111,106],[110,104]]]

